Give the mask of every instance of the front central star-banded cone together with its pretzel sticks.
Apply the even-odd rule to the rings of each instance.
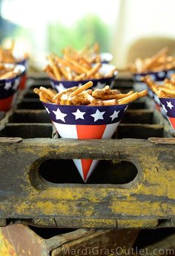
[[[146,90],[121,94],[109,86],[93,91],[89,89],[91,86],[93,82],[88,81],[81,87],[59,93],[42,86],[34,89],[62,138],[111,138],[128,104],[148,94]],[[99,162],[93,159],[73,161],[85,182]]]

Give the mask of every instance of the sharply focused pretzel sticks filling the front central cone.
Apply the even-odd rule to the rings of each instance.
[[[91,86],[93,86],[93,82],[89,81],[81,87],[75,86],[59,93],[41,86],[39,89],[34,89],[34,92],[45,103],[86,106],[121,105],[148,95],[147,90],[122,94],[116,89],[110,89],[109,86],[105,86],[104,89],[95,89],[94,91],[90,89]]]

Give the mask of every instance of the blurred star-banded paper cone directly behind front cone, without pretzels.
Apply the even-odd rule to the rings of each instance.
[[[115,68],[114,65],[109,65],[109,64],[102,64],[102,67],[99,69],[99,72],[101,74],[108,74],[110,71]],[[101,79],[90,79],[90,81],[93,82],[93,89],[102,89],[104,86],[108,85],[110,87],[113,86],[113,82],[115,80],[117,71],[114,72],[112,77],[106,77],[106,78],[101,78]],[[56,89],[58,92],[63,92],[65,89],[73,87],[73,86],[82,86],[85,83],[87,83],[89,80],[81,80],[81,81],[58,81],[58,80],[53,80],[50,78],[50,83],[53,87],[53,89]]]

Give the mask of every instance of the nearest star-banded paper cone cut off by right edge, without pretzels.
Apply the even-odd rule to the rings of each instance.
[[[159,100],[162,103],[165,115],[175,132],[175,98],[160,97]]]

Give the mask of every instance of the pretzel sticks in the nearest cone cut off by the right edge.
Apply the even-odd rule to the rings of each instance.
[[[171,80],[166,78],[162,85],[155,84],[149,76],[143,77],[143,80],[159,97],[175,97],[175,75],[171,77]]]

